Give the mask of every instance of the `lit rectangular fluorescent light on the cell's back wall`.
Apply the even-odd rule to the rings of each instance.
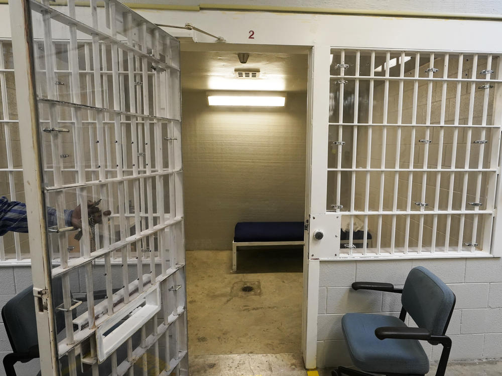
[[[207,100],[210,106],[283,107],[286,103],[286,94],[263,92],[210,92],[207,93]]]

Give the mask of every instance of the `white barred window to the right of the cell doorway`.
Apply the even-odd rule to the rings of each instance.
[[[326,208],[348,217],[340,256],[489,253],[500,56],[331,54]]]

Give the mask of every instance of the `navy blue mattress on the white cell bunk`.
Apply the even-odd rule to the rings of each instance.
[[[235,225],[234,242],[303,241],[303,222],[239,222]]]

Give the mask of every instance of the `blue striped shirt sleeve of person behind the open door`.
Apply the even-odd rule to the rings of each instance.
[[[65,226],[71,226],[71,215],[73,210],[64,211]],[[47,208],[48,226],[57,225],[57,213],[54,208]],[[9,231],[18,233],[28,232],[28,219],[26,215],[26,204],[19,201],[9,201],[7,197],[0,197],[0,236]]]

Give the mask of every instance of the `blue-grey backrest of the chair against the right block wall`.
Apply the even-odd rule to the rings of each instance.
[[[435,274],[417,266],[406,278],[401,302],[419,327],[430,330],[433,335],[444,335],[455,306],[455,295]]]

